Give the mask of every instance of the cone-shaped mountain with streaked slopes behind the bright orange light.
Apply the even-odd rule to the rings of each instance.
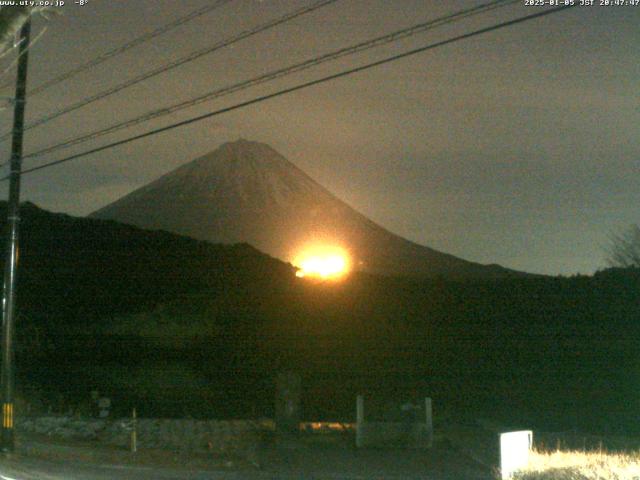
[[[346,249],[358,270],[493,277],[510,273],[410,242],[372,222],[268,145],[226,143],[94,212],[200,240],[247,242],[293,261],[308,245]]]

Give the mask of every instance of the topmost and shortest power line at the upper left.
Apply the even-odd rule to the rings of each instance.
[[[163,35],[173,30],[174,28],[177,28],[181,25],[184,25],[185,23],[195,20],[196,18],[199,18],[213,10],[216,10],[231,1],[233,0],[218,0],[217,2],[211,5],[206,5],[202,8],[194,10],[191,13],[188,13],[187,15],[174,20],[173,22],[167,23],[166,25],[156,28],[155,30],[149,33],[145,33],[144,35],[134,38],[133,40],[125,43],[124,45],[121,45],[120,47],[114,48],[113,50],[103,53],[102,55],[99,55],[93,58],[92,60],[89,60],[88,62],[83,63],[82,65],[79,65],[78,67],[75,67],[66,73],[63,73],[62,75],[59,75],[58,77],[52,78],[51,80],[48,80],[38,85],[37,87],[29,90],[28,95],[29,96],[38,95],[39,93],[44,92],[45,90],[53,87],[54,85],[64,82],[65,80],[68,80],[69,78],[81,72],[84,72],[85,70],[88,70],[97,65],[100,65],[101,63],[106,62],[110,58],[120,55],[121,53],[124,53],[133,47],[137,47],[138,45],[141,45],[145,42],[148,42],[149,40],[159,37],[160,35]],[[6,86],[7,86],[6,84],[2,85],[1,88],[4,88]]]

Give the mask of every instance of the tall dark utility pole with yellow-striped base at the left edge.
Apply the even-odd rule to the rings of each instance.
[[[4,263],[4,292],[2,295],[2,429],[0,429],[0,451],[12,452],[14,442],[13,390],[13,326],[15,321],[16,273],[18,269],[18,230],[20,225],[20,174],[22,170],[22,137],[24,131],[24,109],[27,93],[27,61],[31,20],[20,30],[20,57],[16,80],[16,97],[13,113],[13,139],[11,144],[11,173],[9,177],[9,201],[7,202],[7,238]]]

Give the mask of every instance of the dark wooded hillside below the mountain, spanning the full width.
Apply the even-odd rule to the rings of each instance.
[[[98,389],[116,414],[270,416],[274,376],[293,370],[307,419],[353,419],[363,392],[429,395],[436,418],[640,433],[638,269],[314,283],[248,245],[23,214],[32,408],[86,409]]]

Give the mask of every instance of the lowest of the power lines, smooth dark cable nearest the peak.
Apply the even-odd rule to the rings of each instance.
[[[540,17],[546,16],[546,15],[550,15],[550,14],[557,13],[557,12],[560,12],[560,11],[563,11],[563,10],[567,10],[569,8],[573,8],[574,6],[575,5],[567,5],[567,6],[561,6],[561,7],[556,7],[556,8],[552,8],[552,9],[547,9],[547,10],[543,10],[543,11],[538,12],[538,13],[534,13],[534,14],[531,14],[531,15],[526,15],[526,16],[523,16],[523,17],[519,17],[519,18],[516,18],[514,20],[501,22],[501,23],[498,23],[496,25],[492,25],[490,27],[485,27],[485,28],[481,28],[479,30],[474,30],[472,32],[465,33],[465,34],[462,34],[462,35],[458,35],[458,36],[449,38],[447,40],[442,40],[442,41],[439,41],[439,42],[435,42],[435,43],[426,45],[424,47],[416,48],[416,49],[409,50],[409,51],[406,51],[406,52],[403,52],[403,53],[400,53],[400,54],[397,54],[397,55],[386,57],[386,58],[384,58],[382,60],[378,60],[378,61],[375,61],[375,62],[367,63],[365,65],[361,65],[359,67],[355,67],[355,68],[352,68],[352,69],[349,69],[349,70],[344,70],[342,72],[339,72],[339,73],[336,73],[336,74],[333,74],[333,75],[328,75],[328,76],[325,76],[325,77],[322,77],[322,78],[319,78],[319,79],[316,79],[316,80],[312,80],[312,81],[309,81],[309,82],[301,83],[299,85],[296,85],[296,86],[293,86],[293,87],[289,87],[289,88],[285,88],[283,90],[279,90],[277,92],[270,93],[268,95],[263,95],[261,97],[254,98],[252,100],[248,100],[248,101],[245,101],[245,102],[237,103],[237,104],[232,105],[230,107],[225,107],[225,108],[222,108],[222,109],[219,109],[219,110],[215,110],[213,112],[209,112],[209,113],[206,113],[204,115],[199,115],[197,117],[193,117],[193,118],[190,118],[188,120],[183,120],[181,122],[177,122],[177,123],[174,123],[172,125],[168,125],[168,126],[165,126],[165,127],[157,128],[157,129],[151,130],[149,132],[142,133],[140,135],[135,135],[135,136],[123,139],[123,140],[119,140],[117,142],[113,142],[113,143],[110,143],[110,144],[107,144],[107,145],[103,145],[101,147],[93,148],[91,150],[86,150],[84,152],[77,153],[75,155],[70,155],[68,157],[65,157],[65,158],[62,158],[62,159],[59,159],[59,160],[48,162],[48,163],[45,163],[43,165],[39,165],[37,167],[32,167],[32,168],[23,170],[23,174],[36,172],[38,170],[43,170],[43,169],[46,169],[46,168],[53,167],[55,165],[60,165],[62,163],[70,162],[70,161],[76,160],[78,158],[86,157],[86,156],[91,155],[93,153],[98,153],[98,152],[101,152],[101,151],[104,151],[104,150],[108,150],[110,148],[114,148],[114,147],[117,147],[117,146],[120,146],[120,145],[125,145],[127,143],[131,143],[131,142],[134,142],[136,140],[141,140],[143,138],[147,138],[147,137],[150,137],[152,135],[156,135],[156,134],[163,133],[163,132],[166,132],[166,131],[169,131],[169,130],[173,130],[174,128],[179,128],[179,127],[183,127],[183,126],[186,126],[186,125],[190,125],[192,123],[196,123],[196,122],[199,122],[199,121],[202,121],[202,120],[206,120],[208,118],[211,118],[211,117],[214,117],[214,116],[217,116],[217,115],[221,115],[223,113],[227,113],[227,112],[230,112],[230,111],[233,111],[233,110],[238,110],[240,108],[247,107],[249,105],[254,105],[256,103],[263,102],[265,100],[269,100],[269,99],[272,99],[272,98],[280,97],[280,96],[286,95],[288,93],[296,92],[296,91],[302,90],[304,88],[308,88],[308,87],[311,87],[311,86],[314,86],[314,85],[319,85],[321,83],[329,82],[331,80],[336,80],[338,78],[346,77],[348,75],[352,75],[354,73],[362,72],[364,70],[368,70],[368,69],[373,68],[373,67],[384,65],[386,63],[394,62],[396,60],[400,60],[402,58],[406,58],[406,57],[409,57],[411,55],[416,55],[418,53],[422,53],[422,52],[425,52],[425,51],[428,51],[428,50],[433,50],[433,49],[438,48],[438,47],[449,45],[449,44],[458,42],[460,40],[465,40],[467,38],[471,38],[471,37],[474,37],[474,36],[477,36],[477,35],[481,35],[481,34],[484,34],[484,33],[488,33],[488,32],[492,32],[492,31],[495,31],[495,30],[499,30],[499,29],[504,28],[504,27],[509,27],[509,26],[516,25],[516,24],[519,24],[519,23],[523,23],[523,22],[526,22],[526,21],[529,21],[529,20],[533,20],[535,18],[540,18]],[[5,181],[8,178],[9,177],[4,177],[4,178],[0,179],[0,181]]]

